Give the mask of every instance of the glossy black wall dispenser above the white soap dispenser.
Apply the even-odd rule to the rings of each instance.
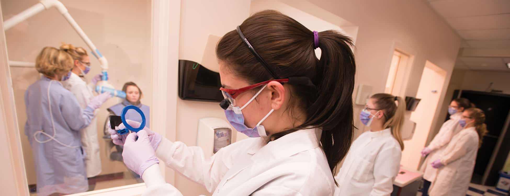
[[[221,81],[218,72],[197,62],[179,60],[179,97],[183,100],[220,102]]]

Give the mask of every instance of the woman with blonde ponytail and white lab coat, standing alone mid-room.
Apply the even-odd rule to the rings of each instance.
[[[390,94],[375,94],[367,100],[360,120],[370,126],[362,133],[335,176],[339,187],[335,195],[390,195],[400,169],[404,149],[401,128],[405,102]]]

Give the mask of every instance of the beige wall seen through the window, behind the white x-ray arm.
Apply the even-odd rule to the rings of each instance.
[[[2,0],[4,20],[10,18],[38,1]],[[151,105],[151,69],[150,69],[150,22],[151,1],[61,1],[71,16],[78,22],[99,51],[108,59],[110,83],[117,89],[126,81],[136,82],[144,92],[142,103]],[[112,9],[115,8],[115,9]],[[34,62],[36,55],[44,46],[59,47],[60,42],[82,46],[89,51],[85,43],[74,32],[59,12],[52,8],[23,21],[6,32],[9,60]],[[99,62],[90,56],[92,69],[87,75],[90,79],[100,72]],[[25,114],[23,94],[31,83],[39,78],[34,68],[11,68],[14,98],[18,125],[20,129],[23,157],[27,169],[28,183],[34,184],[34,162],[27,136],[23,133]],[[98,136],[103,172],[108,174],[122,172],[121,162],[109,161],[105,152],[103,123],[107,117],[106,108],[117,103],[114,98],[100,108],[98,118]]]

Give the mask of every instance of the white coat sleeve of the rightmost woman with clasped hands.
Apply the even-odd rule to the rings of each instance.
[[[441,163],[448,165],[449,163],[463,157],[473,146],[478,147],[478,141],[472,141],[468,134],[462,136],[453,146],[453,150],[444,152],[441,156]]]

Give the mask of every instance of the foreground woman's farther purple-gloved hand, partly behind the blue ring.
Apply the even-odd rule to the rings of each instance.
[[[127,124],[129,124],[130,126],[132,126],[134,128],[138,128],[141,125],[141,123],[139,123],[137,121],[126,120],[126,122],[127,122]],[[126,128],[123,123],[121,123],[118,127],[119,127],[119,130]],[[150,141],[150,146],[152,146],[152,148],[156,151],[156,149],[158,148],[158,145],[161,142],[161,139],[163,137],[161,136],[161,134],[155,133],[154,131],[150,130],[147,127],[144,127],[143,130],[145,130],[145,132],[147,132],[147,135],[148,135],[149,141]],[[110,133],[110,137],[113,140],[113,144],[120,145],[120,146],[124,145],[124,143],[126,141],[127,134],[119,135],[119,134],[117,134],[117,130],[113,130],[110,126],[108,126],[108,132]]]

